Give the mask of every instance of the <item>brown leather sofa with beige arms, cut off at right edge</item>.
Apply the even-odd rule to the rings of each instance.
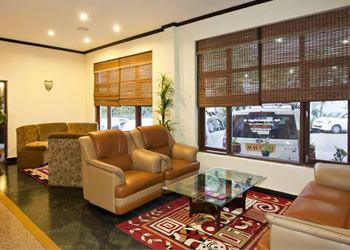
[[[284,215],[266,215],[258,249],[350,249],[350,166],[317,163]]]

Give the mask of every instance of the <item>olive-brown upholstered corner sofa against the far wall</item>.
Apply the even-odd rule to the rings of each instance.
[[[48,139],[52,133],[87,133],[96,131],[97,123],[43,123],[16,129],[17,166],[37,168],[48,162]]]

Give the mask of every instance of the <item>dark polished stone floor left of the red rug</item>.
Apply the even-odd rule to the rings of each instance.
[[[114,216],[85,201],[82,189],[46,187],[16,165],[0,166],[0,190],[62,249],[149,249],[115,225],[179,197],[163,195]]]

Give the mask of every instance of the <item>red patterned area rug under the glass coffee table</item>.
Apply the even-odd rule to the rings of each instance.
[[[249,191],[247,210],[221,212],[221,229],[208,214],[189,218],[188,198],[181,197],[116,227],[152,249],[254,249],[267,230],[266,213],[283,214],[291,200]]]

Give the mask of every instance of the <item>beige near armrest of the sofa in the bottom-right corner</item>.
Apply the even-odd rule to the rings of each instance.
[[[270,249],[345,249],[350,230],[276,214],[267,214],[271,226]]]

